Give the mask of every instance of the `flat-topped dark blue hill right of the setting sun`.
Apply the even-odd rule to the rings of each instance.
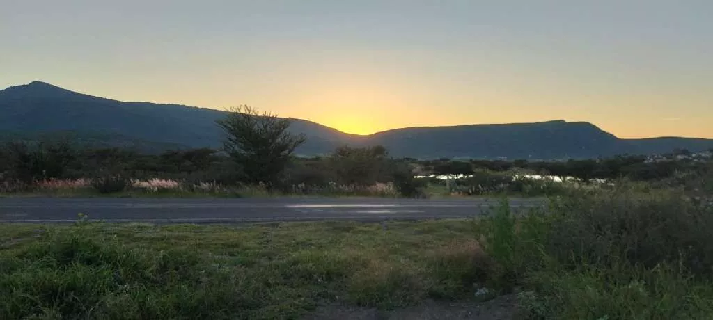
[[[589,158],[619,151],[614,135],[590,123],[563,120],[405,128],[377,133],[369,140],[396,154],[429,158]]]

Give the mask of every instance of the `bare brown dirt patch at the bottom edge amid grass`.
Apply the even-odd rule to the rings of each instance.
[[[304,320],[355,319],[355,320],[436,320],[479,319],[509,320],[515,316],[515,296],[498,296],[485,302],[426,301],[413,306],[391,311],[349,306],[322,306]]]

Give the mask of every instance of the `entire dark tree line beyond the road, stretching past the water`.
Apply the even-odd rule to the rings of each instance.
[[[421,174],[471,175],[478,171],[529,170],[543,175],[578,177],[582,180],[656,180],[696,164],[686,161],[646,162],[642,156],[621,155],[607,159],[565,162],[527,160],[450,159],[419,161],[392,158],[381,145],[343,146],[330,155],[295,158],[294,150],[306,141],[289,133],[289,120],[239,106],[217,121],[225,133],[220,149],[170,150],[158,155],[125,148],[78,149],[71,141],[16,141],[0,148],[3,180],[31,183],[37,180],[95,177],[111,181],[120,177],[162,177],[222,185],[264,185],[279,192],[293,185],[373,185],[392,182],[402,195],[414,196],[423,182]]]

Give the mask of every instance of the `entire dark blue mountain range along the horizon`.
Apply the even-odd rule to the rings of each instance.
[[[35,81],[0,91],[0,138],[68,135],[94,147],[142,150],[218,148],[215,120],[225,111],[188,105],[124,102]],[[384,145],[391,155],[411,158],[597,158],[713,148],[698,138],[621,139],[587,122],[456,125],[352,135],[319,123],[290,119],[290,130],[307,135],[299,155],[330,153],[341,145]]]

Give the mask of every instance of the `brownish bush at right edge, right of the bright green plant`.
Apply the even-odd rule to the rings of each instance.
[[[624,187],[575,192],[553,202],[558,217],[548,252],[561,262],[655,267],[680,263],[697,274],[713,269],[713,212],[679,192],[642,195]]]

